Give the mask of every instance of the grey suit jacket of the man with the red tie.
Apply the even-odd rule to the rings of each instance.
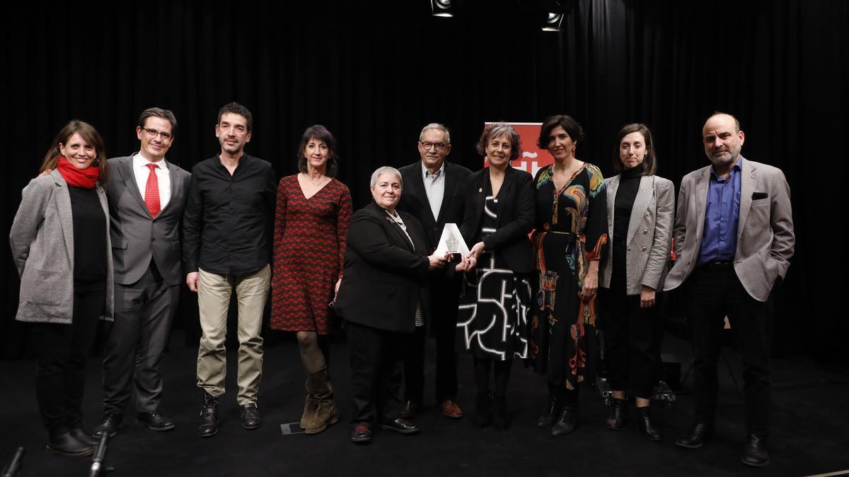
[[[150,266],[151,257],[155,258],[156,267],[168,285],[183,283],[180,227],[191,174],[170,162],[166,164],[171,173],[171,199],[153,219],[132,173],[132,155],[109,160],[106,194],[109,195],[112,221],[110,234],[116,283],[136,283]]]

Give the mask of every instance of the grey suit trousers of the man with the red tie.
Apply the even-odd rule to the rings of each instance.
[[[104,349],[104,412],[123,414],[131,387],[137,411],[159,409],[162,358],[179,296],[179,285],[168,286],[153,260],[138,282],[115,283],[115,323]]]

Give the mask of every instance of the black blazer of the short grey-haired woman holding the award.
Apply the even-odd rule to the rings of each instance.
[[[430,254],[419,221],[400,211],[413,245],[401,227],[374,201],[351,216],[345,268],[336,295],[336,314],[348,321],[388,331],[415,331],[416,302],[430,302]]]

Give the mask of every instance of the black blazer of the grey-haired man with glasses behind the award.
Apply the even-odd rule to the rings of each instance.
[[[442,227],[445,227],[447,223],[456,223],[459,227],[463,222],[465,194],[471,171],[464,166],[445,163],[445,194],[442,195],[442,205],[436,221],[433,220],[430,202],[424,191],[422,161],[418,160],[409,166],[403,166],[398,171],[401,172],[404,183],[404,193],[401,194],[398,209],[406,210],[419,219],[424,227],[424,233],[427,234],[430,251],[436,250],[442,235]]]

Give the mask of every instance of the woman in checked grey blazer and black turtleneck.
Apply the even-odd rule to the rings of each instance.
[[[629,124],[616,137],[613,167],[604,179],[611,246],[601,265],[599,303],[604,311],[604,345],[613,387],[609,429],[626,417],[625,390],[637,398],[637,425],[652,441],[661,433],[651,422],[649,398],[659,377],[655,290],[662,289],[672,247],[674,186],[655,176],[657,160],[648,126]]]

